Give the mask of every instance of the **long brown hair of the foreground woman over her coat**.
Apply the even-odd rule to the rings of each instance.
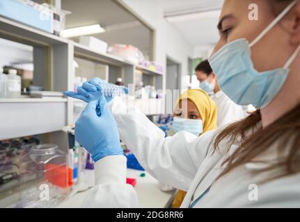
[[[288,3],[291,0],[269,1],[274,11],[278,11],[278,7],[283,7],[281,3]],[[275,142],[278,142],[278,154],[280,156],[282,154],[283,157],[275,164],[271,164],[269,167],[258,171],[258,173],[278,169],[276,176],[267,178],[267,180],[273,180],[300,172],[300,103],[290,110],[290,112],[283,115],[283,117],[271,123],[271,125],[266,128],[258,128],[255,133],[247,137],[248,130],[258,126],[260,121],[260,110],[256,110],[246,117],[246,119],[232,123],[222,130],[219,135],[216,135],[214,139],[214,151],[219,150],[219,144],[223,139],[229,139],[229,148],[236,142],[238,137],[242,138],[239,148],[223,162],[223,165],[226,164],[226,167],[219,178],[236,167],[253,162],[255,157],[267,151]]]

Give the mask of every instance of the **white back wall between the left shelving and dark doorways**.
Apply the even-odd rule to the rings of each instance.
[[[157,1],[123,0],[129,8],[155,29],[155,51],[157,62],[166,67],[166,58],[170,58],[181,65],[181,88],[185,89],[184,76],[188,70],[188,59],[194,57],[193,47],[184,39],[182,33],[164,19],[164,12]],[[164,71],[164,74],[166,71]],[[166,86],[166,75],[164,75]]]

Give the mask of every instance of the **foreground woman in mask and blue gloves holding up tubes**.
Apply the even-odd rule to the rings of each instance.
[[[258,5],[258,21],[248,18],[251,3]],[[164,138],[118,98],[111,111],[105,99],[99,107],[90,101],[75,129],[96,162],[97,186],[86,207],[139,206],[125,184],[119,133],[152,176],[187,191],[181,207],[299,207],[300,1],[226,0],[218,28],[209,61],[219,85],[235,103],[258,110],[200,137],[181,131]],[[89,95],[81,96],[93,98],[92,85],[97,82],[86,83]]]

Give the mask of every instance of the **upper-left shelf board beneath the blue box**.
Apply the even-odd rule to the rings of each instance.
[[[68,44],[69,40],[45,31],[40,31],[31,26],[0,17],[0,36],[15,37],[22,42],[36,42],[41,45]]]

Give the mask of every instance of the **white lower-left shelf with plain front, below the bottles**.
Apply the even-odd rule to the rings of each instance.
[[[1,99],[0,140],[61,130],[67,99]]]

